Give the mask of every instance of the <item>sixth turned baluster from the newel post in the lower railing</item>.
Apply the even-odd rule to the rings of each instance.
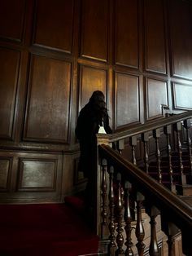
[[[150,256],[159,256],[160,252],[159,252],[159,246],[157,243],[157,236],[156,236],[156,222],[155,222],[155,218],[157,217],[157,215],[159,215],[159,210],[155,207],[152,206],[151,207],[151,242],[150,242],[150,249],[149,249],[149,253]]]

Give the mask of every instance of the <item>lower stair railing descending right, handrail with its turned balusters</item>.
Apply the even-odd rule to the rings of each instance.
[[[102,173],[105,173],[102,175],[102,179],[105,180],[105,186],[103,187],[104,190],[103,188],[101,189],[101,200],[98,205],[98,235],[103,239],[109,239],[111,243],[110,250],[116,249],[116,255],[127,255],[124,254],[124,251],[131,250],[131,237],[133,236],[133,226],[130,223],[131,219],[132,221],[136,220],[134,228],[136,231],[135,236],[137,237],[137,253],[138,255],[144,254],[146,247],[143,243],[145,231],[142,223],[142,203],[144,201],[146,213],[151,217],[150,255],[160,255],[155,231],[155,218],[158,214],[160,214],[163,222],[161,228],[165,234],[170,237],[170,241],[172,241],[171,237],[175,235],[175,233],[172,235],[170,228],[174,224],[174,226],[177,227],[177,232],[178,230],[181,231],[183,253],[192,255],[192,245],[189,236],[187,236],[187,234],[192,232],[192,209],[190,206],[184,201],[181,201],[177,195],[170,192],[170,190],[165,188],[161,183],[155,181],[155,179],[151,178],[143,170],[125,160],[118,152],[114,151],[109,146],[104,144],[99,145],[99,154],[103,159],[101,166],[105,166],[102,168]],[[112,187],[108,186],[111,182],[107,182],[107,180],[111,180],[107,179],[107,170],[111,169],[113,169],[112,175],[116,176],[117,181],[116,199],[114,199],[114,196],[111,196]],[[112,180],[115,183],[115,179]],[[125,198],[127,198],[124,196],[124,192],[129,188],[126,183],[130,183],[133,190],[135,190],[135,192],[132,193],[132,200],[137,205],[136,218],[134,214],[132,216],[130,214],[131,208],[129,205],[131,202],[133,203],[133,201],[124,203]],[[112,188],[112,190],[113,189],[114,188]],[[122,192],[122,190],[124,190],[124,192]],[[108,200],[107,197],[109,198]],[[114,203],[114,201],[116,201],[116,203]],[[107,205],[109,205],[109,208]],[[134,207],[132,210],[134,210]],[[101,212],[104,214],[101,214]],[[123,232],[126,233],[125,239]],[[172,246],[170,241],[168,241],[169,246]],[[126,249],[123,248],[123,245],[126,246]],[[171,250],[172,249],[170,249],[170,251]],[[135,255],[135,253],[133,255]]]

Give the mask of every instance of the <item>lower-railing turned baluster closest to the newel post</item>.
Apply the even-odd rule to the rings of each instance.
[[[107,160],[102,160],[102,236],[103,236],[103,229],[107,226]]]

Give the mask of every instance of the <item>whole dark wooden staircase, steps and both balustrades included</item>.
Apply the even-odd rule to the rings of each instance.
[[[182,113],[98,135],[98,235],[108,239],[110,255],[192,255],[191,118]],[[149,156],[152,139],[155,156]]]

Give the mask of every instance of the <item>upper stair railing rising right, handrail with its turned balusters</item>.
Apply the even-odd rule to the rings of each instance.
[[[116,150],[124,156],[124,145],[128,144],[132,147],[132,159],[134,165],[146,171],[146,174],[152,170],[155,179],[159,180],[159,183],[166,183],[166,186],[172,192],[178,192],[182,194],[182,187],[190,181],[192,182],[192,153],[191,153],[191,139],[190,139],[190,127],[191,127],[192,111],[173,115],[170,117],[164,117],[157,121],[149,121],[145,125],[134,126],[129,130],[122,130],[115,132],[111,135],[98,135],[98,144],[107,143],[115,144]],[[188,166],[183,165],[183,132],[185,133],[185,151],[188,153]],[[155,139],[155,162],[156,166],[150,166],[150,152],[149,144],[152,139]],[[162,139],[163,138],[163,139]],[[165,139],[166,138],[166,139]],[[164,143],[164,152],[160,151],[159,141],[166,140]],[[161,142],[162,146],[162,142]],[[137,163],[136,148],[143,148],[140,159],[140,163]],[[114,148],[114,147],[113,147]],[[177,152],[177,166],[173,165],[172,152]],[[130,155],[130,152],[129,152]],[[162,157],[167,157],[167,167],[161,165]],[[154,168],[153,168],[154,167]],[[163,170],[165,172],[163,172]],[[186,171],[187,170],[187,171]],[[166,182],[165,182],[166,179]]]

